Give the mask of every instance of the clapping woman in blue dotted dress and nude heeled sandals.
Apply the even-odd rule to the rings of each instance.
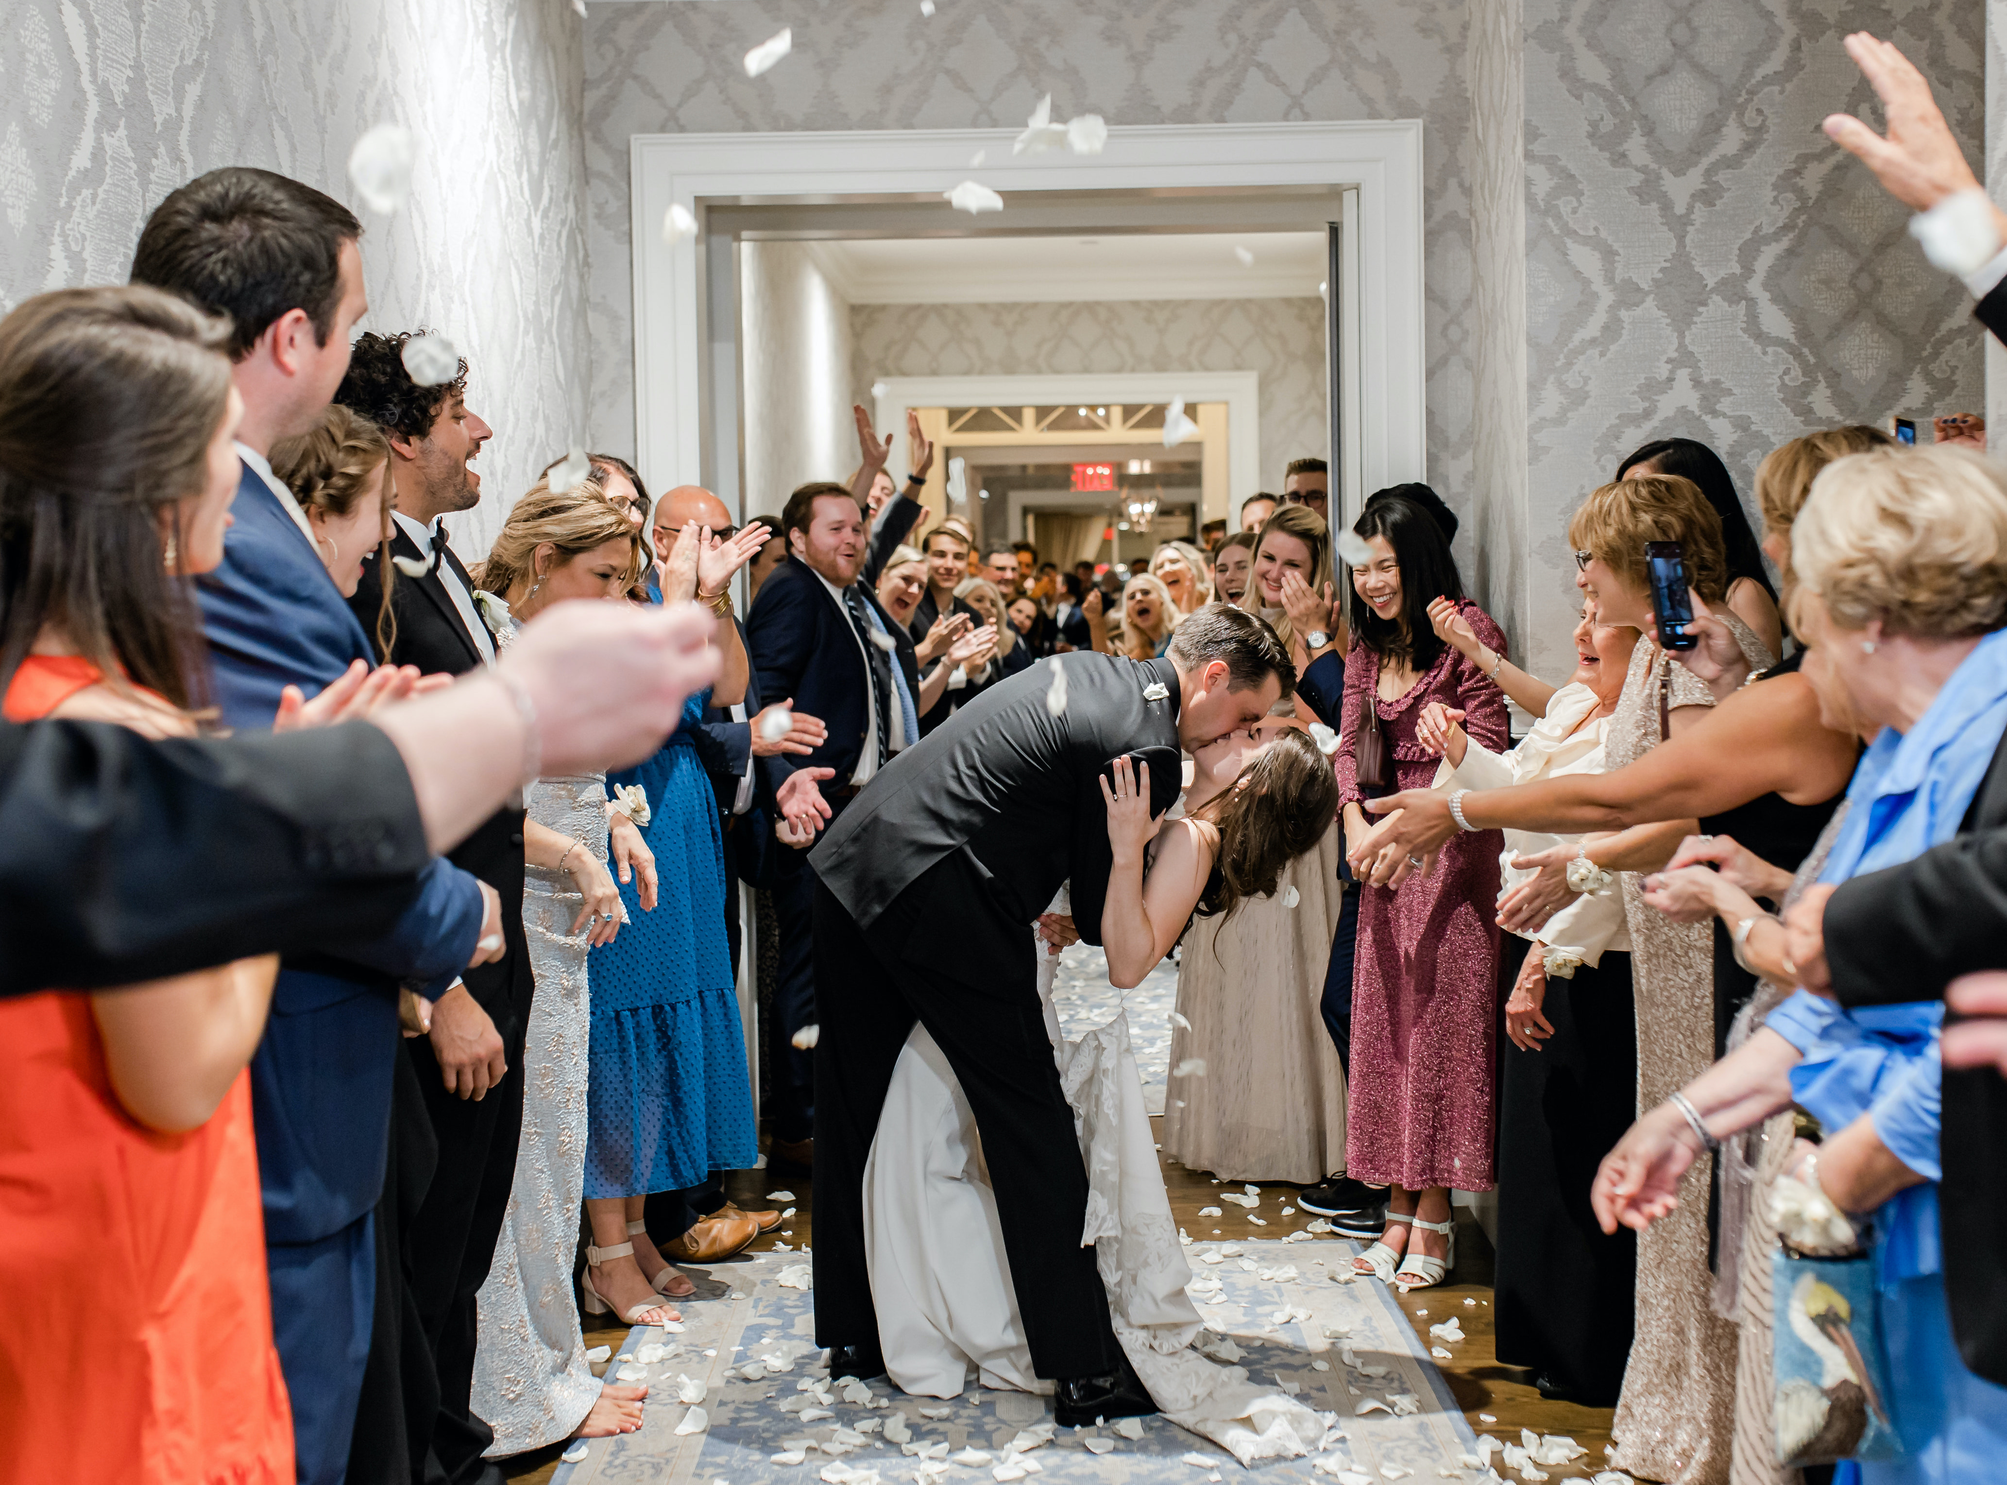
[[[749,526],[731,542],[712,538],[702,550],[694,528],[676,538],[662,592],[670,600],[696,594],[716,608],[725,670],[712,690],[690,696],[680,724],[652,759],[606,777],[610,797],[634,785],[646,795],[642,837],[654,851],[658,883],[652,913],[640,909],[638,883],[620,883],[630,921],[590,959],[592,1268],[580,1298],[590,1312],[612,1310],[630,1324],[630,1316],[692,1288],[648,1240],[642,1198],[700,1186],[712,1170],[743,1170],[759,1158],[725,945],[725,837],[690,734],[706,706],[731,706],[745,694],[745,648],[723,594],[765,536],[765,528]]]

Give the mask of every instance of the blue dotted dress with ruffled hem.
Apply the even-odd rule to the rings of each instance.
[[[606,775],[648,793],[656,905],[620,885],[628,921],[590,955],[586,1196],[698,1186],[759,1158],[745,1033],[725,945],[725,837],[690,732],[710,692],[690,696],[662,749]],[[618,873],[616,873],[618,877]]]

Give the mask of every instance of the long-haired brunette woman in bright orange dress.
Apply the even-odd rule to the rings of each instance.
[[[66,289],[0,321],[10,722],[193,732],[223,558],[223,321]],[[0,1481],[293,1485],[245,1066],[275,957],[0,1003]]]

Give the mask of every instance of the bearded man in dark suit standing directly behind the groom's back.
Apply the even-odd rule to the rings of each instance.
[[[839,484],[807,484],[787,498],[781,532],[789,558],[761,584],[747,616],[747,652],[761,696],[793,696],[819,716],[825,740],[805,755],[777,755],[785,819],[805,825],[841,815],[891,759],[919,742],[919,666],[913,638],[859,582],[867,538],[863,506]],[[815,1160],[815,1062],[793,1046],[817,1019],[811,937],[813,873],[783,861],[773,881],[781,927],[769,1035],[769,1156],[809,1168]]]

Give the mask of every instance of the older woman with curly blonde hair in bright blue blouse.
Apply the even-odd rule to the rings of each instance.
[[[1792,628],[1826,726],[1875,736],[1820,881],[1949,841],[2007,730],[2007,476],[1957,448],[1875,450],[1828,466],[1792,528]],[[1796,1174],[1871,1214],[1897,1459],[1871,1485],[1997,1477],[2007,1389],[1959,1359],[1937,1228],[1941,985],[1842,1011],[1798,989],[1764,1029],[1644,1114],[1604,1160],[1604,1226],[1646,1228],[1720,1138],[1788,1104],[1824,1126]],[[1700,1200],[1704,1194],[1696,1194]]]

